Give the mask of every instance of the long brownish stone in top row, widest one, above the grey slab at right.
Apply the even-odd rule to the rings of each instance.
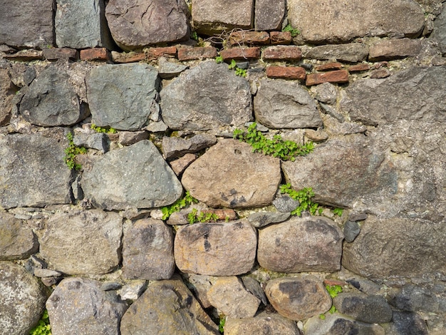
[[[290,0],[288,19],[309,43],[342,43],[363,36],[418,36],[424,13],[413,0],[385,6],[379,0],[353,0],[346,4],[323,0]],[[321,15],[323,13],[323,15]]]

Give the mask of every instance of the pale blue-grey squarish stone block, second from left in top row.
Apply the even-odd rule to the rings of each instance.
[[[59,48],[113,48],[100,0],[56,0],[56,44]]]

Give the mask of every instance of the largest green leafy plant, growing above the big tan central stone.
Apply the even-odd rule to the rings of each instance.
[[[281,135],[274,135],[273,139],[270,140],[261,131],[256,130],[256,127],[257,124],[254,122],[249,125],[247,133],[243,130],[235,129],[233,137],[251,145],[253,151],[256,153],[272,155],[281,160],[294,161],[296,156],[307,155],[314,149],[314,143],[311,141],[301,145],[291,140],[282,140]]]

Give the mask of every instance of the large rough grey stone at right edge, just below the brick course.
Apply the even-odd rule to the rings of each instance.
[[[422,90],[420,90],[422,83]],[[425,94],[424,92],[429,92]],[[413,67],[395,73],[385,81],[365,79],[346,89],[341,108],[351,120],[366,125],[397,120],[443,122],[446,120],[446,68]]]

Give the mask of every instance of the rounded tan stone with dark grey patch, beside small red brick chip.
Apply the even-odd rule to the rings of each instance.
[[[266,297],[274,309],[288,319],[299,321],[325,313],[331,298],[316,277],[282,277],[266,284]]]

